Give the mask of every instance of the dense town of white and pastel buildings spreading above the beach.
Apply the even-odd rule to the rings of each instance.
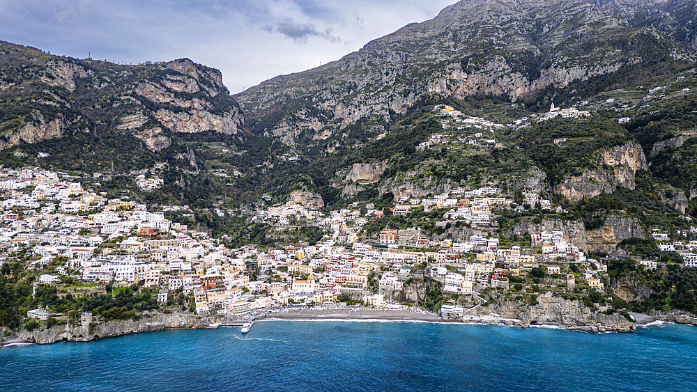
[[[321,212],[289,201],[257,211],[250,221],[281,231],[321,228],[325,236],[320,242],[229,249],[206,232],[164,217],[166,211],[186,211],[187,206],[148,211],[146,205],[124,200],[128,196],[108,199],[84,189],[79,180],[37,168],[0,170],[0,267],[24,255],[27,268],[38,275],[35,290],[51,285],[61,296],[93,297],[105,294],[108,284],[139,284],[158,292],[160,304],[183,294],[194,298],[191,311],[199,315],[244,317],[278,306],[345,301],[406,308],[413,301],[403,295],[405,286],[415,279],[442,283],[444,295],[475,297],[491,289],[521,295],[577,288],[603,292],[608,284],[607,265],[588,259],[562,231],[528,233],[519,241],[498,238],[496,213],[516,205],[493,187],[402,198],[389,210],[353,203]],[[551,207],[537,194],[526,193],[525,201]],[[452,240],[433,239],[420,228],[365,230],[385,213],[399,217],[415,211],[440,211],[436,227],[465,224],[473,234]],[[661,251],[679,251],[684,265],[697,265],[692,253],[697,242],[670,242],[665,233],[654,237]],[[640,262],[657,267],[653,260]],[[542,277],[549,279],[542,283],[537,279]],[[464,311],[452,303],[441,306],[441,314]],[[30,317],[45,318],[50,309],[32,312]]]

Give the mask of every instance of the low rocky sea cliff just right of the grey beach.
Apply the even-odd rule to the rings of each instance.
[[[581,301],[560,297],[539,297],[534,305],[520,301],[500,301],[466,312],[463,320],[521,328],[549,326],[593,334],[636,330],[636,322],[625,315],[602,313],[585,306]]]

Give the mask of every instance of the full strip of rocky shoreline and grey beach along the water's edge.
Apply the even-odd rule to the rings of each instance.
[[[563,310],[563,311],[562,311]],[[471,311],[471,309],[470,309]],[[488,313],[487,313],[488,312]],[[496,312],[496,313],[495,313]],[[632,320],[630,320],[632,319]],[[650,311],[647,314],[605,314],[592,311],[579,301],[551,297],[541,299],[535,306],[520,306],[503,302],[495,306],[479,307],[459,317],[438,317],[424,311],[291,310],[268,313],[258,320],[313,320],[313,321],[392,321],[392,322],[453,322],[464,324],[506,325],[518,328],[547,327],[567,331],[585,331],[593,334],[636,331],[637,325],[653,321],[697,325],[697,315],[682,311]],[[213,329],[221,325],[238,325],[241,320],[222,316],[197,316],[184,313],[144,313],[135,319],[111,320],[93,325],[70,324],[20,331],[0,338],[0,347],[21,343],[50,344],[62,341],[87,342],[116,336],[162,331],[164,329]]]

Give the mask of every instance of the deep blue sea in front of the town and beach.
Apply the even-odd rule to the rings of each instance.
[[[257,322],[0,349],[0,391],[695,391],[696,327]]]

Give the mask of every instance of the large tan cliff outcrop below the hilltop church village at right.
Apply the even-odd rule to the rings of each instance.
[[[581,175],[570,175],[554,187],[554,193],[576,202],[612,193],[618,186],[634,189],[636,171],[648,170],[643,149],[636,143],[600,152],[597,165],[606,169],[586,170]]]

